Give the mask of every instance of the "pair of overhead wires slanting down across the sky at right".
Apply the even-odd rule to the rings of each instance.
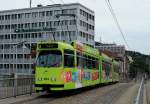
[[[130,48],[130,46],[129,46],[129,44],[128,44],[126,38],[125,38],[124,32],[122,31],[122,28],[121,28],[121,26],[120,26],[120,24],[119,24],[119,22],[118,22],[118,19],[117,19],[116,15],[115,15],[115,12],[114,12],[114,10],[113,10],[113,8],[112,8],[112,6],[111,6],[111,3],[109,2],[109,0],[105,0],[105,2],[106,2],[106,4],[107,4],[108,9],[110,10],[111,15],[113,16],[114,22],[116,23],[116,25],[117,25],[117,27],[118,27],[120,33],[121,33],[121,36],[122,36],[122,38],[123,38],[123,40],[124,40],[126,46],[127,46],[128,48]]]

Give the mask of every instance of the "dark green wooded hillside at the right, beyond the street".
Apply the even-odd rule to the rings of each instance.
[[[150,56],[135,51],[126,51],[126,54],[133,59],[133,63],[131,63],[129,70],[131,78],[134,78],[141,73],[149,74]]]

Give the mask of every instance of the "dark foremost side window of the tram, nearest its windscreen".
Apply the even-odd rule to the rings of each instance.
[[[74,67],[74,51],[64,50],[64,67]]]

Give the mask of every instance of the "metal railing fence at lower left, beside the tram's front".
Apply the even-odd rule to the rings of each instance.
[[[34,92],[34,78],[0,79],[0,99],[32,94]]]

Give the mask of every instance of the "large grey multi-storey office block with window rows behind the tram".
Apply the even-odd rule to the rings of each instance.
[[[94,46],[94,29],[94,12],[79,3],[0,11],[0,75],[30,75],[34,58],[28,57],[29,47],[39,41]]]

